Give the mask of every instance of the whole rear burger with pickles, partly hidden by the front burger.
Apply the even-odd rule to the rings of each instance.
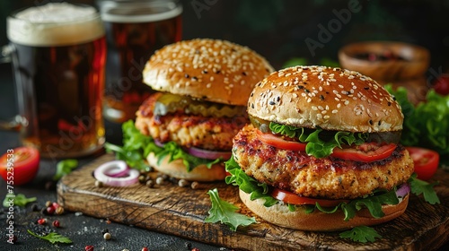
[[[143,71],[154,94],[135,123],[152,139],[149,165],[170,177],[223,180],[233,136],[249,123],[250,93],[273,71],[250,48],[225,40],[184,40],[156,51]]]

